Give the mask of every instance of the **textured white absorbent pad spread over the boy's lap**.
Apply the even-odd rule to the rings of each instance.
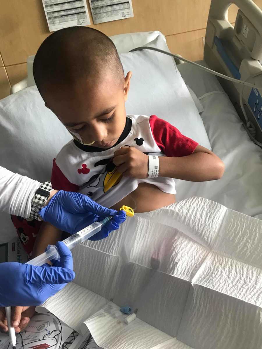
[[[75,280],[43,307],[102,348],[261,349],[260,220],[193,197],[72,252]]]

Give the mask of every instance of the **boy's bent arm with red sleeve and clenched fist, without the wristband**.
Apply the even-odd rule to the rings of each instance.
[[[169,122],[152,115],[150,128],[159,149],[166,155],[159,157],[159,176],[194,182],[215,180],[223,176],[224,164],[219,157],[182,135]],[[136,148],[117,150],[113,162],[123,176],[147,178],[148,156]]]

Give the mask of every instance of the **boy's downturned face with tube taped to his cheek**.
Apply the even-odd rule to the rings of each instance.
[[[114,146],[126,122],[125,101],[128,97],[129,72],[123,84],[116,84],[111,74],[80,81],[71,88],[52,87],[45,93],[46,107],[52,110],[68,131],[77,133],[83,143],[98,148]],[[79,138],[79,137],[78,137]]]

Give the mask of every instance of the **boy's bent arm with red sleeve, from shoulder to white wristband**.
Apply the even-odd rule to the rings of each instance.
[[[211,150],[159,119],[150,117],[150,127],[158,147],[166,157],[159,157],[159,175],[194,182],[219,179],[224,173],[224,163]]]

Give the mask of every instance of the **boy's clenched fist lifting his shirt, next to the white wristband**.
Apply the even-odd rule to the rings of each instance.
[[[122,147],[115,151],[113,163],[125,177],[148,177],[148,155],[134,147]]]

